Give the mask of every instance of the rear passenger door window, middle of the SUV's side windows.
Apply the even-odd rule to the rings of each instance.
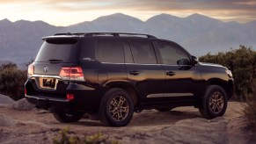
[[[157,58],[152,43],[149,41],[129,42],[135,63],[156,64]]]

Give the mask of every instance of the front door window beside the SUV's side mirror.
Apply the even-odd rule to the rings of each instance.
[[[157,42],[159,52],[164,64],[168,65],[189,65],[187,54],[180,47],[173,44]]]

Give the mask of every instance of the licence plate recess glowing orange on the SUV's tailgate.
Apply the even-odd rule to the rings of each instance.
[[[58,80],[55,78],[40,77],[40,88],[56,90]]]

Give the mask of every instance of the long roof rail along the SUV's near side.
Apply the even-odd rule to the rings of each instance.
[[[126,33],[126,32],[88,32],[84,33],[84,36],[113,36],[113,37],[146,37],[146,38],[157,38],[150,34],[143,33]]]

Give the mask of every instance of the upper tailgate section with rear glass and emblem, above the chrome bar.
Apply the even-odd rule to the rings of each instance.
[[[73,38],[46,39],[34,61],[34,74],[59,76],[62,65],[77,63],[78,45]]]

